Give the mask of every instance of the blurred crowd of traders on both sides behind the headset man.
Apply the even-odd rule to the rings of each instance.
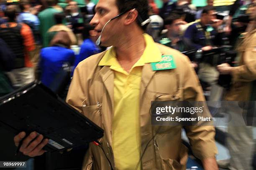
[[[248,13],[250,4],[241,6],[245,2],[236,2],[229,15],[223,15],[222,12],[217,13],[213,0],[207,0],[207,6],[200,7],[198,10],[189,0],[177,2],[163,0],[161,9],[157,7],[154,0],[148,0],[150,22],[147,23],[146,32],[154,38],[155,42],[181,52],[210,51],[227,44],[232,44],[232,48],[235,49],[240,33],[245,31],[248,22],[232,23],[230,18],[235,12],[239,15]],[[1,3],[0,38],[10,48],[8,52],[13,53],[13,57],[3,61],[4,65],[11,62],[13,64],[12,70],[1,69],[2,77],[7,76],[3,80],[10,81],[10,86],[7,83],[8,87],[3,87],[6,91],[3,90],[2,95],[10,92],[10,89],[23,87],[35,79],[41,80],[47,86],[54,82],[54,79],[45,82],[45,77],[54,77],[67,59],[65,55],[59,55],[58,59],[50,60],[49,54],[41,53],[45,51],[44,47],[65,46],[69,49],[72,47],[73,50],[77,49],[74,50],[72,60],[68,60],[72,66],[76,66],[90,55],[105,50],[105,47],[95,45],[99,34],[89,24],[95,14],[95,4],[90,0],[86,1],[86,4],[81,6],[78,2],[71,0],[65,3],[59,3],[56,0],[42,2],[21,0],[16,4],[5,1]],[[246,10],[244,10],[245,6]],[[67,39],[70,41],[62,37],[63,40],[53,44],[51,40],[59,31],[67,32]],[[13,34],[11,38],[10,34]],[[63,44],[63,41],[70,44]],[[45,59],[45,55],[48,56],[48,60]],[[206,62],[199,62],[195,57],[190,60],[192,67],[199,71],[200,80],[209,83],[213,91],[218,90],[215,96],[210,96],[210,100],[218,100],[222,91],[216,86],[219,76],[216,68]],[[46,68],[49,63],[54,68],[49,66]]]

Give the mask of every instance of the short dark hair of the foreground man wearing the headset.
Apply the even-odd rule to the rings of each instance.
[[[148,0],[116,0],[116,6],[119,13],[136,8],[138,11],[137,23],[143,30],[146,30],[146,25],[141,26],[141,23],[148,19]]]

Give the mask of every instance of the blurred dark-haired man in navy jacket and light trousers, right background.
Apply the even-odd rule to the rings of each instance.
[[[187,46],[196,50],[203,51],[212,50],[213,47],[221,45],[221,35],[218,33],[218,25],[214,27],[210,24],[216,20],[215,8],[206,6],[202,10],[200,21],[190,25],[184,33],[184,42]],[[222,97],[223,87],[218,85],[219,72],[211,65],[205,57],[199,64],[198,77],[201,81],[207,82],[211,86],[210,101],[220,101]],[[212,114],[219,109],[219,104],[209,104]]]

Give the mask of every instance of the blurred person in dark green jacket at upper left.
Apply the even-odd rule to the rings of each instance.
[[[46,32],[55,25],[54,14],[61,13],[60,10],[54,8],[57,4],[57,0],[46,0],[48,7],[38,14],[40,20],[40,35],[42,38],[43,47],[47,47],[49,42],[46,39]]]

